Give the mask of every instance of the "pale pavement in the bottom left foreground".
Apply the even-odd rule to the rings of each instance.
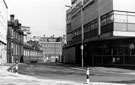
[[[7,68],[0,66],[0,85],[83,85],[76,82],[39,79],[34,76],[10,73]]]

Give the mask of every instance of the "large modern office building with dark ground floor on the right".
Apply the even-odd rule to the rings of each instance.
[[[71,4],[65,63],[81,65],[83,59],[85,66],[135,65],[135,0],[71,0]]]

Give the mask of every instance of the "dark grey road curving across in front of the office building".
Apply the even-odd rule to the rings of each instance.
[[[77,83],[86,82],[85,68],[55,64],[34,64],[20,67],[25,68],[20,68],[20,73],[31,75],[39,79],[66,80]],[[90,82],[135,84],[134,70],[91,67]]]

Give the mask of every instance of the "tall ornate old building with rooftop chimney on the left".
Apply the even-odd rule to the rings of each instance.
[[[7,60],[8,63],[19,61],[23,56],[23,31],[21,23],[14,19],[14,15],[10,15],[7,31]]]

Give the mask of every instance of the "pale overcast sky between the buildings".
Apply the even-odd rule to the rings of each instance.
[[[71,0],[5,0],[8,6],[8,16],[23,26],[31,28],[32,36],[63,36],[66,33],[65,5],[71,5]],[[9,17],[8,17],[9,19]]]

